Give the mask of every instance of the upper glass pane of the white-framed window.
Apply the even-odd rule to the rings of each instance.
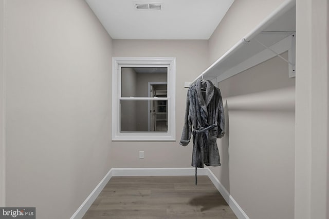
[[[167,67],[122,67],[121,97],[167,97],[167,71]]]

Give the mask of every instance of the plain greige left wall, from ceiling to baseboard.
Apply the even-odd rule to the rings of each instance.
[[[6,205],[69,218],[111,169],[112,39],[84,1],[6,1]]]

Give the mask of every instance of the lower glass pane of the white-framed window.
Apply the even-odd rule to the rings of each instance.
[[[120,100],[121,132],[167,132],[167,100]]]

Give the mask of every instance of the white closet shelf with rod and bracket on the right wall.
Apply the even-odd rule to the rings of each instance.
[[[295,76],[296,2],[286,0],[197,78],[221,82],[288,51],[289,77]],[[284,59],[284,58],[283,58]],[[192,82],[192,83],[193,83]]]

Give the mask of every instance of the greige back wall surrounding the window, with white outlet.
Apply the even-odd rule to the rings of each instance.
[[[192,144],[179,145],[185,116],[187,89],[208,65],[207,41],[157,41],[113,39],[113,56],[176,57],[176,141],[112,142],[114,167],[190,167]],[[139,159],[144,151],[144,159]]]

